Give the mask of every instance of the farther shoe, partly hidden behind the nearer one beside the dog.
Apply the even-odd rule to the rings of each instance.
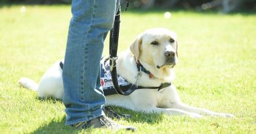
[[[131,118],[130,114],[119,114],[115,112],[111,106],[104,107],[103,112],[108,116],[108,118],[112,119],[116,118],[117,120],[120,120],[121,118]]]

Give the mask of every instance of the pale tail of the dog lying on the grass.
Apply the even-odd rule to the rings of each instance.
[[[20,80],[18,80],[18,84],[33,91],[36,91],[38,88],[38,84],[30,78],[20,78]]]

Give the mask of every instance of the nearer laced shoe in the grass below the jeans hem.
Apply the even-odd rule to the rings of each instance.
[[[106,116],[99,116],[93,120],[89,120],[87,122],[79,122],[77,124],[72,124],[71,126],[77,129],[108,128],[112,130],[119,130],[119,129],[125,129],[125,130],[131,130],[131,131],[136,130],[135,127],[119,125],[113,120],[111,120],[110,118],[107,118]]]

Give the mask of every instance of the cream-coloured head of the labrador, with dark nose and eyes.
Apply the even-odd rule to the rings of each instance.
[[[136,61],[143,61],[155,69],[173,68],[178,59],[175,32],[164,28],[148,29],[131,44]]]

